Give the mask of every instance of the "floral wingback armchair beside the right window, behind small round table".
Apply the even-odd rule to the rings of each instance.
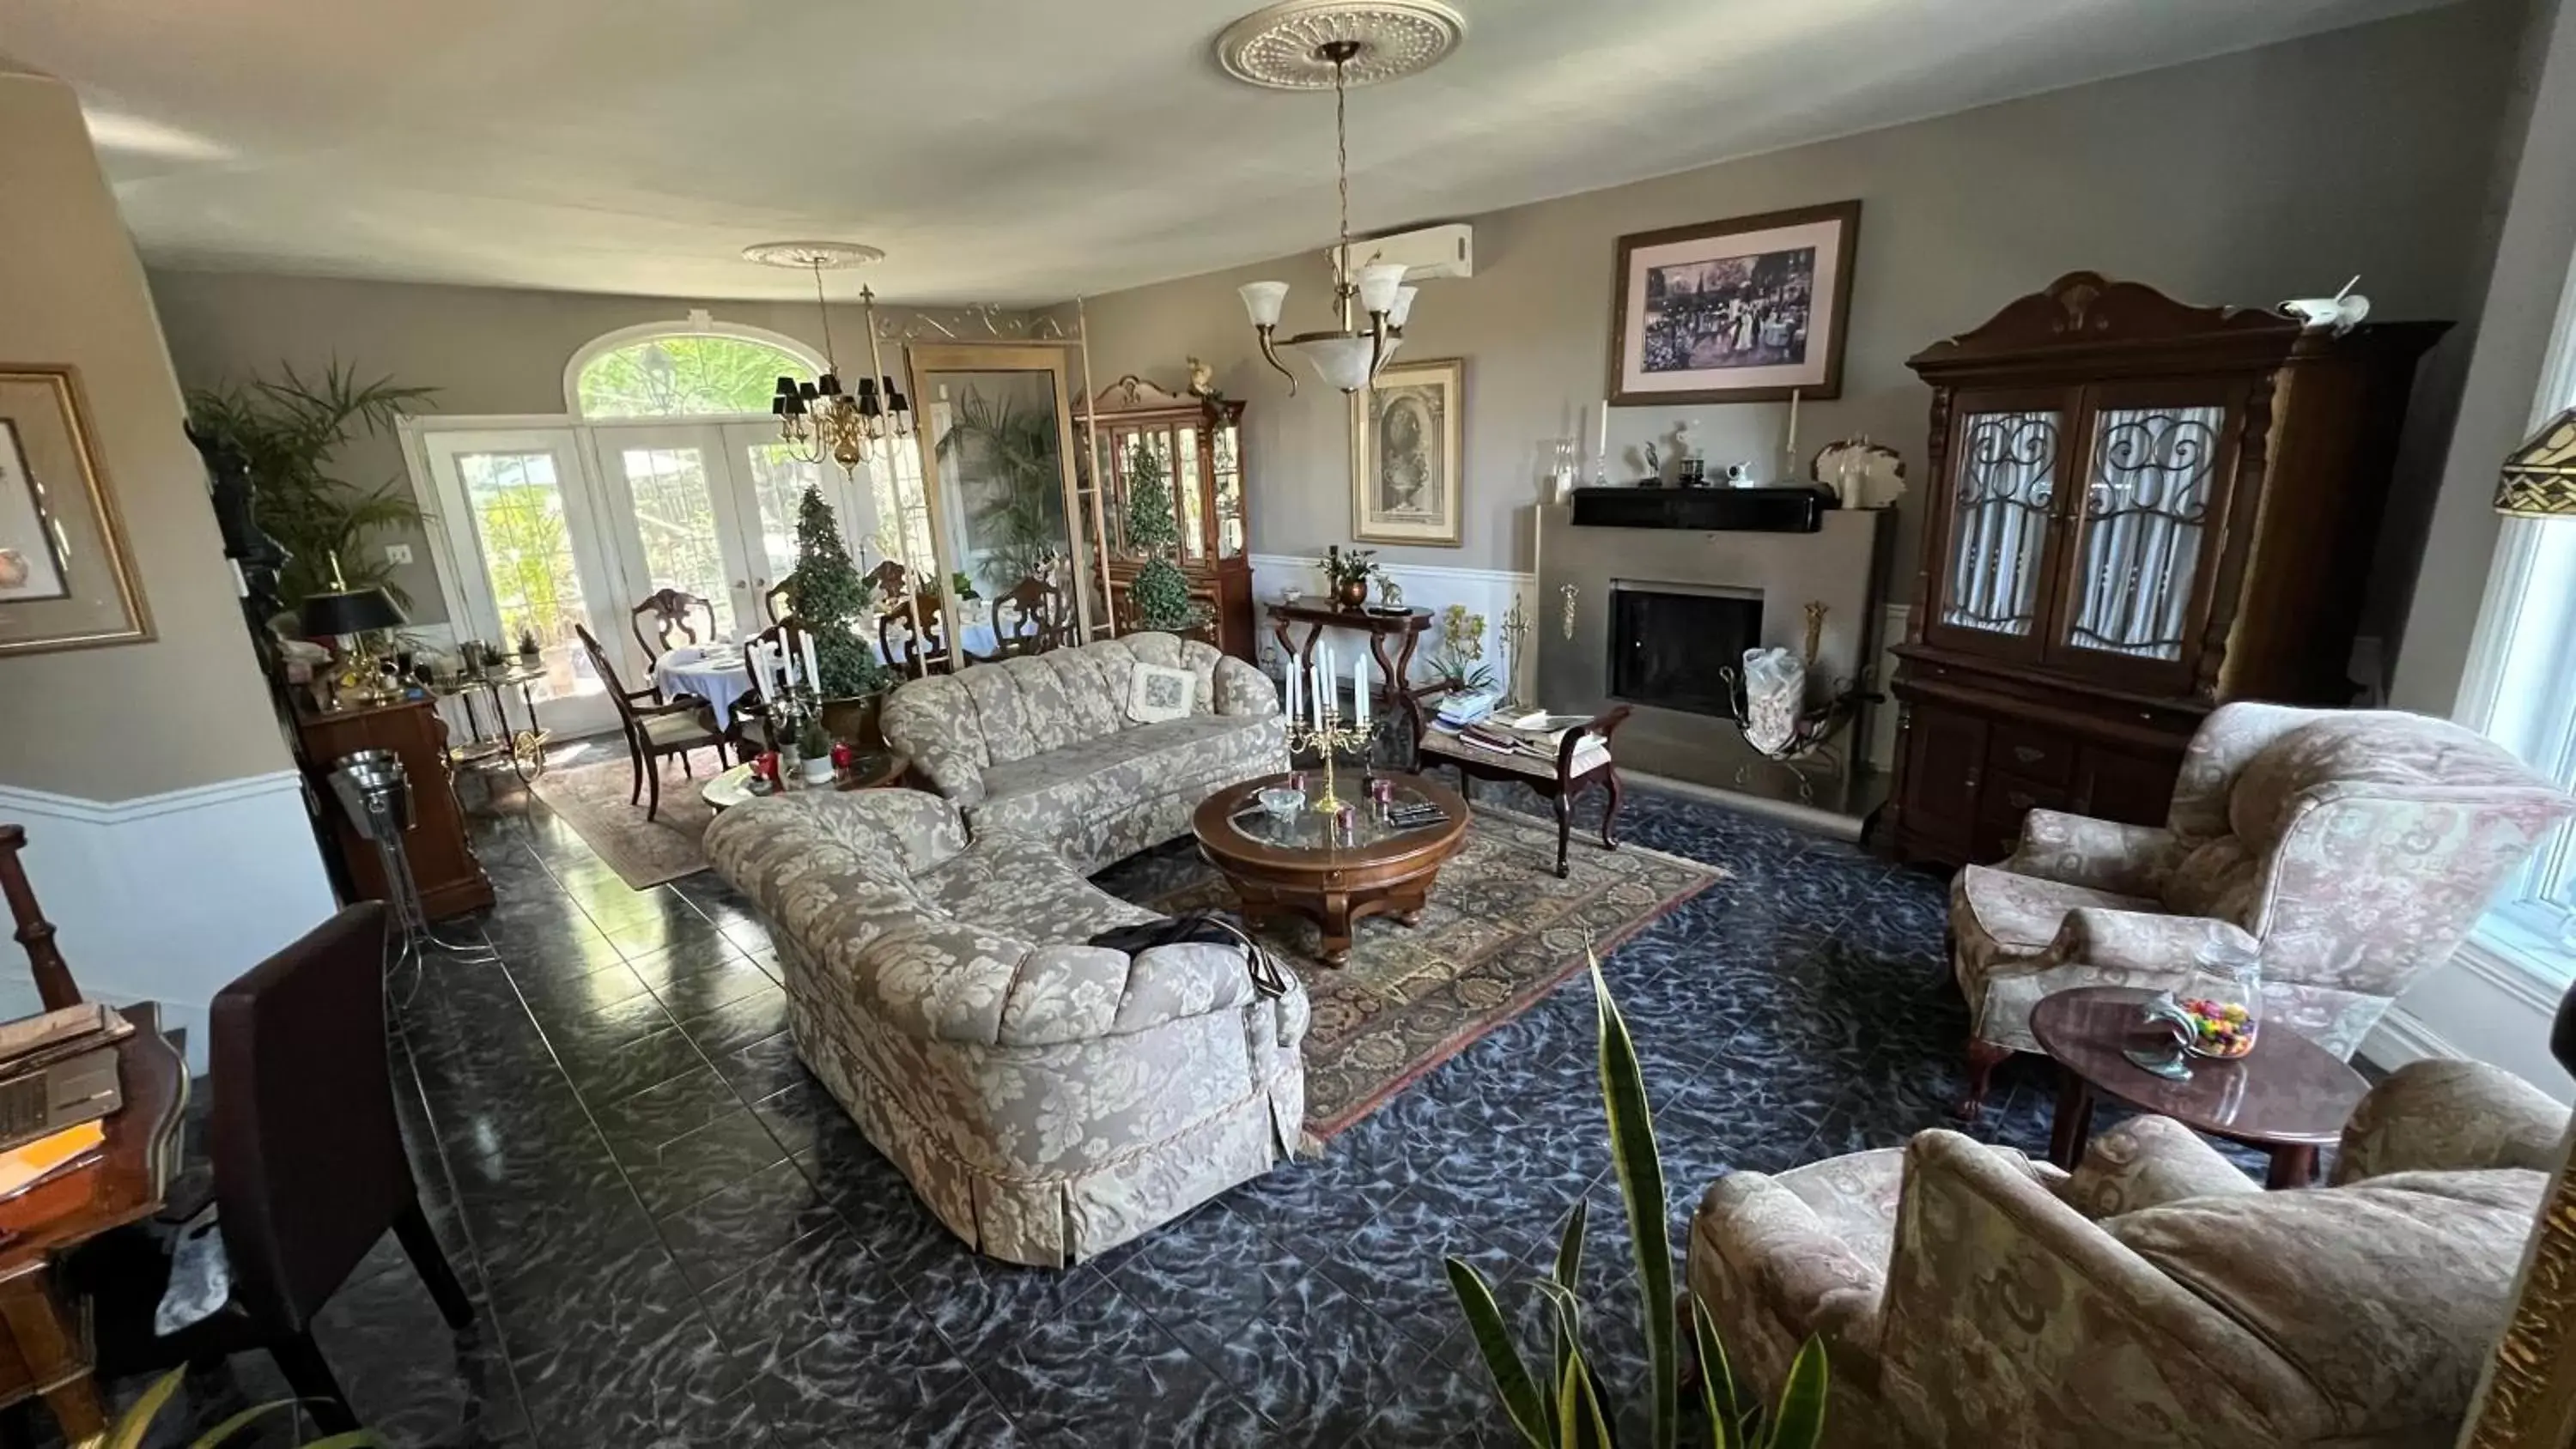
[[[1950,883],[1971,1011],[1963,1114],[2007,1055],[2040,1050],[2040,996],[2177,986],[2213,947],[2259,952],[2264,1022],[2349,1058],[2568,811],[2563,790],[2450,721],[2221,705],[2164,829],[2030,811],[2012,860]]]

